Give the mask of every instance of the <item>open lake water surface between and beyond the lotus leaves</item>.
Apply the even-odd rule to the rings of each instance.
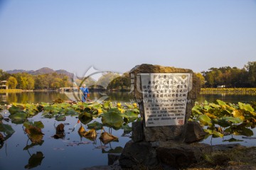
[[[69,97],[68,97],[69,96]],[[133,97],[128,93],[111,93],[111,94],[91,94],[92,100],[108,96],[107,99],[116,102],[120,101],[130,102]],[[73,94],[58,93],[58,92],[23,92],[18,94],[0,94],[0,103],[41,103],[49,102],[56,98],[63,100],[73,100]],[[249,103],[255,101],[255,96],[246,95],[200,95],[197,101],[213,102],[216,99],[230,103]],[[6,112],[6,114],[5,114]],[[8,117],[8,111],[1,113],[5,118]],[[16,125],[3,120],[4,124],[9,124],[16,131],[8,140],[0,146],[0,169],[83,169],[96,165],[107,165],[107,152],[119,152],[125,143],[130,140],[130,135],[122,136],[122,130],[113,130],[112,135],[119,137],[119,142],[110,142],[104,145],[100,142],[100,130],[97,131],[97,140],[91,141],[85,137],[78,135],[78,128],[76,125],[78,118],[68,116],[65,122],[58,122],[55,119],[41,118],[41,113],[29,118],[30,121],[41,120],[45,128],[42,129],[43,143],[41,145],[33,146],[28,139],[26,133],[23,131],[23,125]],[[93,120],[92,120],[93,122]],[[59,123],[65,123],[65,137],[63,139],[54,139],[55,126]],[[83,125],[86,128],[85,125]],[[73,128],[75,130],[73,131]],[[107,128],[105,128],[107,130]],[[256,132],[255,132],[256,133]],[[208,144],[225,144],[222,142],[228,140],[232,136],[225,136],[221,138],[208,138],[203,142]],[[239,142],[241,145],[256,146],[255,140],[243,139],[242,137],[233,136],[235,139],[243,140]],[[252,137],[256,137],[255,135]],[[236,142],[238,143],[238,142]]]

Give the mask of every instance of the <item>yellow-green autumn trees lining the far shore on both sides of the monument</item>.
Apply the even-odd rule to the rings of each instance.
[[[203,87],[256,87],[256,62],[248,62],[245,67],[212,67],[208,71],[196,73]],[[65,74],[51,73],[31,75],[28,73],[9,74],[0,69],[0,80],[7,80],[9,89],[59,89],[73,86],[73,80]],[[87,84],[90,88],[127,90],[130,88],[129,73],[106,72],[97,81],[88,77],[75,80],[77,84]]]

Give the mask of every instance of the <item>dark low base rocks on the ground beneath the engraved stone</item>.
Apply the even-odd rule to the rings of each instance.
[[[203,153],[209,153],[212,147],[206,144],[183,142],[159,142],[152,147],[150,142],[127,142],[119,158],[122,168],[134,169],[138,166],[162,167],[164,169],[179,169],[199,162]]]

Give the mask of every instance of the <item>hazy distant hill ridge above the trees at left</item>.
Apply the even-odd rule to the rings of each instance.
[[[14,70],[8,70],[6,71],[9,74],[16,74],[16,73],[22,73],[22,72],[26,72],[28,74],[32,74],[32,75],[38,75],[38,74],[51,74],[51,73],[58,73],[58,74],[65,74],[68,77],[72,78],[73,77],[73,73],[70,73],[68,71],[66,71],[65,69],[58,69],[58,70],[53,70],[50,69],[48,67],[43,67],[41,69],[37,69],[36,71],[34,70],[24,70],[24,69],[14,69]]]

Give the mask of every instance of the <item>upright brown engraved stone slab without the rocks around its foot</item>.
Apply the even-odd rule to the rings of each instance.
[[[138,65],[129,74],[143,118],[144,140],[182,140],[201,89],[198,77],[191,69],[151,64]]]

